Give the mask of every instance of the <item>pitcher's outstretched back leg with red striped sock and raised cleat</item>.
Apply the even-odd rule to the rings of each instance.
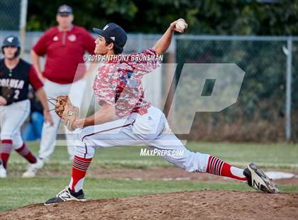
[[[279,190],[272,180],[265,175],[254,163],[250,163],[245,170],[226,163],[225,161],[216,158],[212,155],[203,153],[194,153],[184,147],[182,142],[173,134],[162,134],[153,142],[152,148],[158,150],[175,151],[170,155],[165,155],[163,158],[170,163],[182,167],[188,172],[208,172],[213,175],[231,177],[236,180],[247,181],[250,187],[259,189],[263,192],[277,193]]]

